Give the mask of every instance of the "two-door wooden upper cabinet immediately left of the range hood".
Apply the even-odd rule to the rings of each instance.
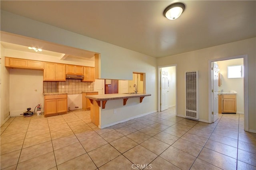
[[[45,62],[44,81],[66,81],[66,64]]]

